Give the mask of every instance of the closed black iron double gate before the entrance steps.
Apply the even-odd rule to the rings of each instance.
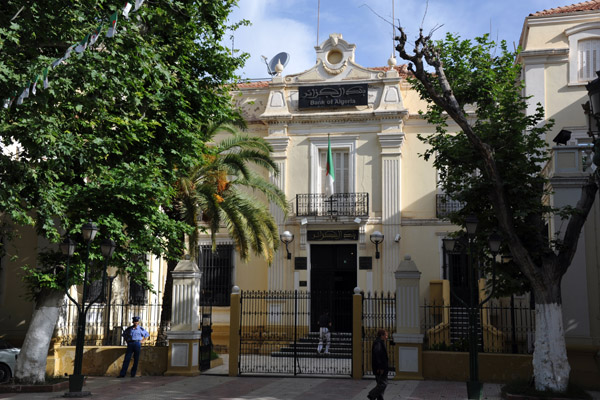
[[[352,333],[336,329],[352,326],[351,292],[242,291],[240,302],[240,375],[351,376]],[[314,327],[325,310],[332,320],[329,354],[317,352]]]

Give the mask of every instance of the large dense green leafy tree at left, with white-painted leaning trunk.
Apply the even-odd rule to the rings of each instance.
[[[206,151],[199,127],[234,114],[228,83],[245,56],[221,44],[234,4],[157,0],[125,19],[117,1],[3,1],[2,97],[18,97],[63,59],[49,68],[48,88],[39,82],[35,96],[0,109],[3,217],[35,226],[54,243],[91,219],[100,238],[119,246],[111,265],[138,281],[145,279],[145,266],[135,262],[140,255],[178,257],[189,228],[163,209],[172,204],[180,171]],[[116,33],[107,37],[115,12]],[[75,51],[99,27],[98,40]],[[81,282],[80,259],[76,254],[67,287]],[[44,380],[65,286],[60,268],[38,267],[27,275],[36,312],[17,365],[24,382]]]

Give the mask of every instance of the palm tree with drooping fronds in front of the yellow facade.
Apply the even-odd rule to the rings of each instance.
[[[197,255],[201,231],[208,230],[214,249],[216,234],[225,228],[243,260],[248,260],[254,252],[270,263],[279,246],[279,235],[264,200],[287,212],[285,194],[256,172],[258,167],[279,173],[270,156],[271,145],[263,138],[240,133],[233,124],[209,124],[204,132],[209,141],[217,133],[229,135],[214,145],[209,144],[202,159],[179,179],[175,207],[169,213],[193,227],[188,236],[190,257],[194,259]],[[157,344],[164,343],[171,320],[171,272],[176,265],[177,261],[168,263]]]

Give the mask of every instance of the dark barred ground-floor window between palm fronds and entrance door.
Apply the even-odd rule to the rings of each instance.
[[[233,287],[233,246],[201,245],[198,265],[202,271],[200,305],[229,306]]]

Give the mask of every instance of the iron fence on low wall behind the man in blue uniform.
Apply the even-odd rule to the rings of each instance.
[[[94,304],[90,307],[85,321],[86,346],[120,346],[123,344],[121,334],[131,325],[131,319],[140,317],[141,325],[150,334],[144,345],[156,344],[156,336],[160,324],[162,305],[155,304]],[[61,345],[74,346],[77,337],[77,308],[68,303],[62,307],[57,324],[57,337]]]

